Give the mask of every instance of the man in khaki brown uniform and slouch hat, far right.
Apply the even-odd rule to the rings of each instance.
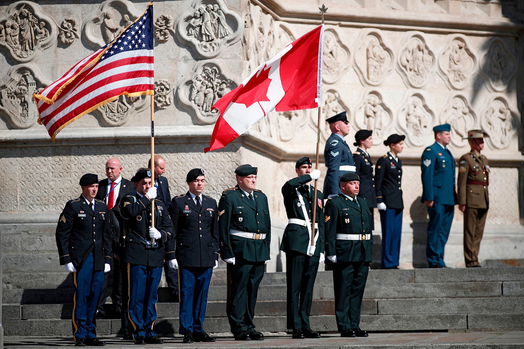
[[[471,151],[464,154],[459,161],[457,188],[459,208],[464,212],[464,259],[467,268],[480,267],[478,250],[489,208],[489,165],[488,159],[481,155],[484,137],[488,135],[482,130],[468,131],[467,138],[464,139],[470,143]]]

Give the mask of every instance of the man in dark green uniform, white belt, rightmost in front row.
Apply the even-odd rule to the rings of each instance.
[[[344,173],[341,191],[324,209],[326,255],[334,263],[336,325],[342,337],[367,337],[359,328],[362,297],[373,252],[371,212],[366,199],[357,197],[359,178]]]

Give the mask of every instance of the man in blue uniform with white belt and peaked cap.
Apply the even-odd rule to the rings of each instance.
[[[328,171],[324,180],[324,199],[340,194],[340,177],[346,172],[355,172],[356,167],[350,146],[344,137],[350,133],[346,112],[336,114],[328,119],[331,136],[324,148],[324,161]]]

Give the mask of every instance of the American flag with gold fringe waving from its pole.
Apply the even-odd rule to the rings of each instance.
[[[62,128],[118,96],[154,94],[153,30],[150,3],[112,42],[33,95],[38,123],[52,141]]]

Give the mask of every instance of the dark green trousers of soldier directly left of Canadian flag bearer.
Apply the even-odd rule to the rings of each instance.
[[[230,299],[227,318],[231,332],[253,332],[253,316],[257,302],[258,286],[264,277],[264,261],[249,261],[237,258],[235,265],[227,264],[231,276]]]

